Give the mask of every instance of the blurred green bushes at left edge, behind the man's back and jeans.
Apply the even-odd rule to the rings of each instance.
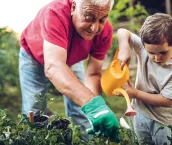
[[[0,28],[0,107],[11,110],[11,115],[19,111],[21,104],[18,52],[19,42],[15,32]]]

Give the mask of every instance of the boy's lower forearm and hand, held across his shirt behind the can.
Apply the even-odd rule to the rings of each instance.
[[[130,96],[130,98],[135,98],[140,101],[143,101],[147,104],[160,106],[160,107],[172,107],[172,99],[168,99],[163,97],[161,94],[151,94],[140,91],[128,82],[128,87],[126,88],[126,92]]]

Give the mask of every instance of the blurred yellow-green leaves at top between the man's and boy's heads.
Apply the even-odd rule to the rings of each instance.
[[[117,27],[118,22],[130,21],[128,29],[137,32],[142,21],[148,16],[148,12],[140,3],[133,6],[130,3],[131,0],[117,0],[113,10],[110,12],[109,20],[114,27]]]

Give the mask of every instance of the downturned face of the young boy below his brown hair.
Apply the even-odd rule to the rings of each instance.
[[[144,43],[149,58],[158,65],[164,65],[172,59],[172,46],[165,42],[161,45]]]

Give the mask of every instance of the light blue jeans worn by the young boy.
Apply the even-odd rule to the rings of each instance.
[[[161,126],[163,125],[159,122],[149,119],[144,115],[137,114],[134,117],[134,130],[140,145],[164,145],[164,143],[170,145],[167,136],[171,138],[172,132],[167,126],[158,131]]]

